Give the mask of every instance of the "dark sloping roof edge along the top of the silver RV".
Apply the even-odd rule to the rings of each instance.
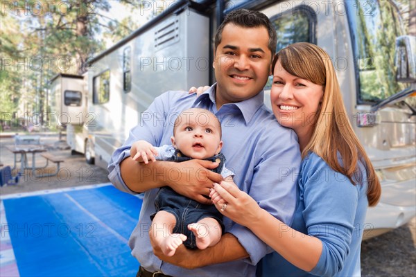
[[[202,3],[211,3],[211,2],[212,1],[201,1],[200,3],[196,3],[196,2],[191,1],[191,0],[180,0],[180,1],[178,1],[171,8],[168,8],[168,10],[164,10],[164,12],[162,12],[160,15],[157,15],[157,17],[148,21],[148,23],[144,24],[144,26],[141,26],[140,28],[135,30],[135,32],[128,35],[128,37],[125,37],[124,39],[121,39],[121,41],[117,42],[116,44],[114,44],[113,46],[108,48],[107,50],[105,50],[105,51],[99,53],[98,55],[96,55],[95,57],[93,57],[91,60],[88,61],[88,65],[91,65],[92,63],[101,59],[101,57],[107,55],[107,53],[110,53],[110,52],[114,51],[116,48],[119,48],[123,44],[126,44],[127,42],[130,42],[130,40],[134,39],[135,37],[137,37],[141,33],[144,33],[146,30],[148,30],[148,28],[157,24],[159,21],[162,21],[164,19],[164,17],[166,17],[166,15],[179,14],[186,7],[193,8],[193,9],[200,12],[202,10]]]

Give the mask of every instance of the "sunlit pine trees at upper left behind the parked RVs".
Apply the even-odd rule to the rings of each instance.
[[[88,57],[137,24],[131,18],[103,24],[114,0],[17,0],[1,9],[1,112],[47,110],[49,80],[56,73],[83,74]],[[141,1],[119,0],[130,10]]]

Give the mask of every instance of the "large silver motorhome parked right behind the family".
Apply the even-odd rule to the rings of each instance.
[[[106,167],[155,97],[215,82],[213,35],[227,12],[259,10],[275,25],[277,50],[311,42],[331,56],[348,116],[383,188],[381,202],[367,213],[365,238],[395,229],[415,216],[416,207],[415,33],[410,32],[415,32],[416,9],[411,5],[413,1],[176,1],[89,61],[87,77],[77,79],[87,80],[88,102],[71,92],[71,105],[61,105],[74,109],[76,118],[75,109],[87,104],[83,124],[68,125],[68,141],[73,150],[85,153],[87,162]],[[270,84],[265,87],[269,106]],[[62,93],[61,102],[66,101]]]

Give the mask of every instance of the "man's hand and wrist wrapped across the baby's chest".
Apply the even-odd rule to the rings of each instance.
[[[166,183],[176,193],[194,199],[202,204],[212,204],[209,190],[214,183],[223,180],[223,177],[209,169],[218,167],[218,163],[192,159],[182,163],[169,163],[165,175]]]

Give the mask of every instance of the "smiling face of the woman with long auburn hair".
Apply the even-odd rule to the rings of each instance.
[[[270,98],[273,114],[281,125],[297,134],[309,132],[323,94],[321,85],[289,74],[277,61]]]

